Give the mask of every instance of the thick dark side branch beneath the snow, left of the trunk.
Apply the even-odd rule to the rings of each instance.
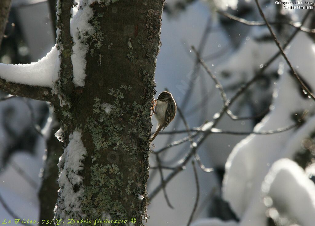
[[[20,97],[27,97],[43,101],[50,101],[53,97],[50,87],[8,82],[3,78],[0,78],[0,87],[4,92]]]

